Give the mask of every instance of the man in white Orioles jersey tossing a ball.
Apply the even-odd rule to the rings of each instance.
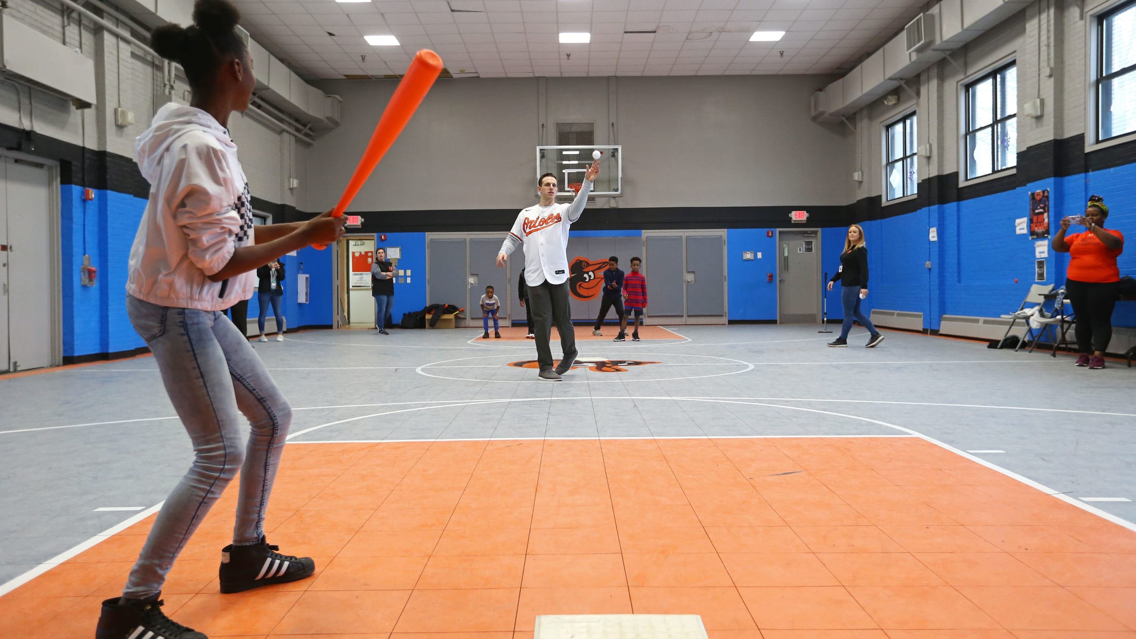
[[[498,254],[498,266],[504,266],[509,254],[518,246],[525,247],[525,283],[528,284],[528,304],[533,310],[536,330],[536,362],[540,379],[551,382],[571,370],[579,352],[576,350],[576,334],[573,332],[571,308],[568,294],[568,230],[579,219],[587,204],[592,183],[600,173],[600,161],[595,160],[584,174],[584,185],[571,204],[557,204],[557,176],[545,173],[537,182],[541,201],[520,211]],[[560,333],[563,356],[560,364],[552,367],[552,349],[549,338],[552,325]]]

